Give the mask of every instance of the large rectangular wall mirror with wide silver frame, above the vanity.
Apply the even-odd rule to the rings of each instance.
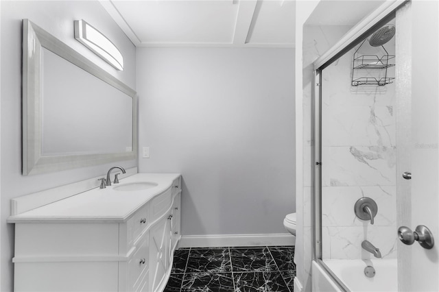
[[[137,93],[23,20],[23,175],[137,158]]]

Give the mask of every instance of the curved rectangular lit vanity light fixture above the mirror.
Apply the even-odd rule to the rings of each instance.
[[[117,70],[123,71],[123,56],[102,32],[83,19],[75,21],[75,38]]]

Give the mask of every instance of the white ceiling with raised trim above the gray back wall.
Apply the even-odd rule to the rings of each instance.
[[[294,47],[292,0],[101,0],[137,47]]]

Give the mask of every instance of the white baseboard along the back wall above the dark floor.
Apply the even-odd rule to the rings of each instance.
[[[182,235],[179,247],[295,245],[292,234]]]

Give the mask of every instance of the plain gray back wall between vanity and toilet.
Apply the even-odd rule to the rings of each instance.
[[[180,172],[182,235],[286,233],[294,49],[137,49],[141,172]]]

